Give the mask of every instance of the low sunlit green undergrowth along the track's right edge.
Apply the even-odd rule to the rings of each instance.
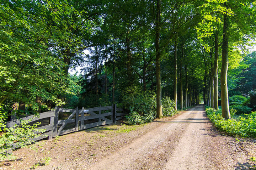
[[[234,136],[256,138],[256,112],[236,119],[234,117],[224,119],[221,112],[221,109],[216,111],[213,108],[206,108],[208,118],[221,131]],[[231,115],[234,116],[234,112],[231,111]]]

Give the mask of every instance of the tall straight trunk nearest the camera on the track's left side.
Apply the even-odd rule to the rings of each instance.
[[[157,1],[156,5],[156,117],[162,117],[162,89],[161,89],[161,70],[160,70],[160,21],[161,21],[161,0]]]

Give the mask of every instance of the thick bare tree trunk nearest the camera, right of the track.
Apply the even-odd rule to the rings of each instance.
[[[222,117],[230,119],[229,101],[228,101],[228,16],[224,14],[223,17],[223,43],[222,43],[222,69],[220,72],[220,90],[222,103]]]

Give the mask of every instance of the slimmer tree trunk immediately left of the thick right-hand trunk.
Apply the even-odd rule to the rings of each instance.
[[[218,32],[215,34],[214,39],[214,66],[213,66],[213,107],[218,110],[218,55],[219,55],[219,44],[218,44]]]

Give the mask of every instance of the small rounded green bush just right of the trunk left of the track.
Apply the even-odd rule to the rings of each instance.
[[[173,116],[174,114],[176,114],[174,107],[175,107],[174,100],[171,100],[170,97],[162,98],[163,116]]]

